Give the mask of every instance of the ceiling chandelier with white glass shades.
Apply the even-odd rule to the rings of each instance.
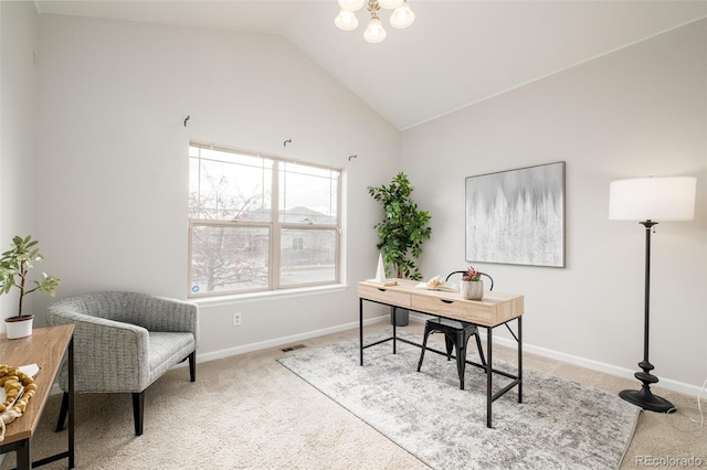
[[[358,28],[356,12],[363,8],[365,4],[367,4],[371,14],[371,21],[363,32],[363,39],[368,42],[381,42],[388,34],[378,18],[378,12],[381,8],[393,10],[390,15],[390,24],[393,28],[408,28],[415,21],[415,14],[410,10],[408,0],[339,0],[341,10],[334,20],[334,24],[344,31],[355,30]]]

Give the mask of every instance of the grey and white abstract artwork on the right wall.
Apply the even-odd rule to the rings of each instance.
[[[564,162],[466,178],[466,260],[564,267]]]

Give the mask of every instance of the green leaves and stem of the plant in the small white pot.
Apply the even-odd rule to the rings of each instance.
[[[34,287],[25,286],[32,263],[44,259],[40,254],[36,245],[38,241],[33,241],[30,235],[22,238],[14,236],[10,244],[10,249],[2,254],[0,258],[0,295],[9,293],[13,287],[20,289],[20,305],[18,306],[18,317],[22,318],[22,301],[24,296],[36,290],[49,293],[51,297],[55,295],[55,288],[61,284],[61,279],[48,276],[42,273],[42,280],[33,280]]]

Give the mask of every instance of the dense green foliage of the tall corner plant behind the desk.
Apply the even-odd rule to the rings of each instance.
[[[376,247],[383,250],[386,267],[392,267],[399,278],[420,280],[422,275],[415,260],[432,228],[430,214],[421,211],[410,196],[412,190],[403,172],[398,173],[388,186],[368,186],[368,193],[383,206],[384,217],[373,228],[378,231]]]

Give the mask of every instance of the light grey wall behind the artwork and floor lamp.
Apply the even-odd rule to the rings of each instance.
[[[697,178],[693,222],[652,243],[651,360],[663,384],[707,376],[706,24],[674,30],[403,132],[432,213],[429,275],[466,266],[465,177],[567,162],[567,267],[477,267],[526,295],[531,351],[632,376],[643,355],[643,226],[608,220],[609,183]],[[665,377],[665,380],[663,380]]]

